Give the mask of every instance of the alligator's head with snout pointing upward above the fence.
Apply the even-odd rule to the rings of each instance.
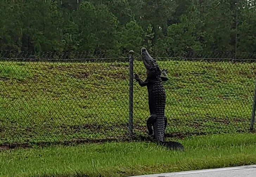
[[[148,78],[155,78],[157,76],[160,76],[161,71],[158,67],[158,64],[156,63],[156,60],[151,57],[145,47],[141,48],[141,56],[144,66],[147,70]]]

